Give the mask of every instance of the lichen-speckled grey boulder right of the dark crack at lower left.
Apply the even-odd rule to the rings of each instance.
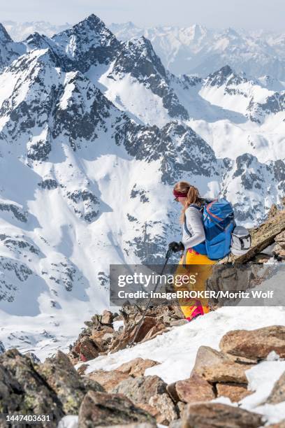
[[[57,394],[66,415],[78,413],[82,399],[88,390],[103,392],[101,385],[94,380],[82,378],[64,352],[58,351],[56,357],[47,358],[36,370],[47,385]]]

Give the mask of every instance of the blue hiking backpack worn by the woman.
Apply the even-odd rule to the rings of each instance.
[[[193,250],[207,255],[211,260],[219,260],[226,257],[231,250],[231,232],[235,227],[233,207],[226,199],[214,199],[205,202],[200,207],[196,204],[191,206],[203,213],[203,225],[205,230],[205,241],[195,245]],[[191,236],[187,228],[186,219],[184,229]]]

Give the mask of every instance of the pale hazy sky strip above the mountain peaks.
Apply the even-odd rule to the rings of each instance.
[[[106,24],[285,30],[284,0],[0,0],[0,22],[74,24],[91,13]]]

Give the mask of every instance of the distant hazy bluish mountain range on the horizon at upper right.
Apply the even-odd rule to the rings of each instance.
[[[140,28],[132,22],[112,24],[110,29],[122,41],[149,38],[163,64],[175,74],[198,73],[205,77],[228,64],[256,78],[269,75],[285,80],[284,34],[214,30],[199,24]]]

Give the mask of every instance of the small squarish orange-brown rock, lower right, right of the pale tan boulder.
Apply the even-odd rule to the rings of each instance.
[[[178,380],[175,390],[180,401],[184,403],[210,401],[215,398],[212,385],[197,373],[193,373],[189,379]]]

